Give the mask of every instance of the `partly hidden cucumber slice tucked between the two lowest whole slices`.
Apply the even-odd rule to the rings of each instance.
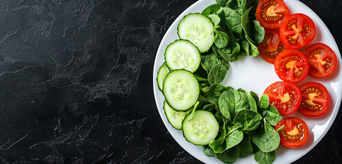
[[[169,105],[168,102],[164,101],[164,112],[166,115],[166,118],[168,118],[168,121],[170,122],[171,126],[181,130],[182,129],[182,122],[183,119],[185,118],[185,115],[189,113],[192,110],[188,111],[174,111]]]

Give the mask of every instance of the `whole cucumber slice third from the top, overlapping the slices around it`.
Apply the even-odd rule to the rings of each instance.
[[[166,76],[163,95],[175,111],[187,111],[195,105],[200,86],[194,74],[187,70],[174,70]]]

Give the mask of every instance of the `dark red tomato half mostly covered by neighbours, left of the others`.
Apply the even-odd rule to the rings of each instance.
[[[265,37],[258,49],[265,61],[274,64],[276,56],[286,49],[280,41],[279,29],[265,29]]]

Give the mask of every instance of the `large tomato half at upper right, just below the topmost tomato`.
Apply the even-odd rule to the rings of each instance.
[[[280,24],[280,39],[287,49],[300,49],[315,38],[316,27],[305,14],[291,14]]]

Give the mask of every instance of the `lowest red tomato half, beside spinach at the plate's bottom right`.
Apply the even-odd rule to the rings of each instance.
[[[285,126],[280,132],[280,143],[287,148],[298,148],[308,141],[308,126],[295,117],[283,118],[274,127],[275,130]]]

